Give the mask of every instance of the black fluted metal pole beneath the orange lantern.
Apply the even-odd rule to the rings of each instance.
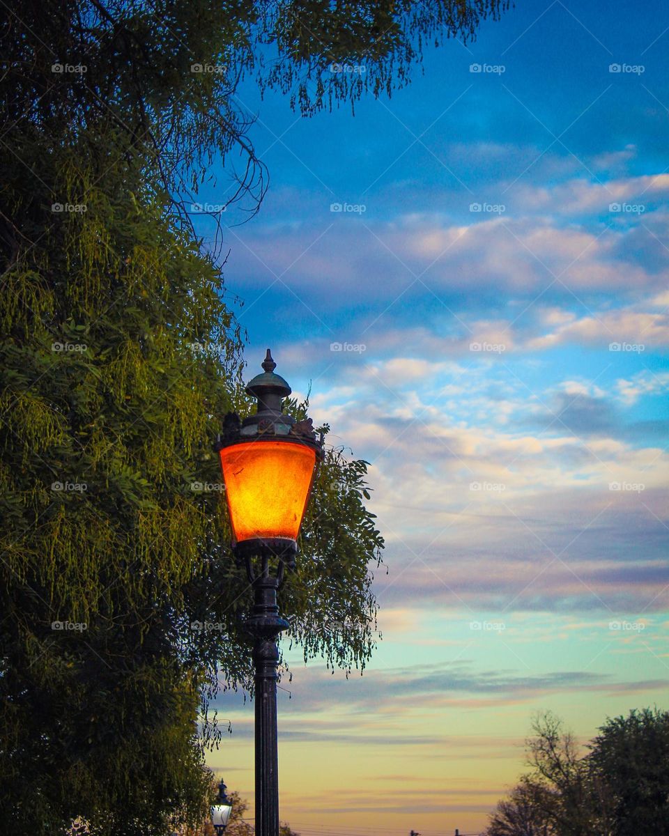
[[[277,734],[277,639],[288,621],[278,614],[277,589],[283,575],[279,564],[278,577],[270,577],[268,558],[262,558],[258,575],[249,576],[253,583],[253,614],[248,630],[253,634],[255,665],[255,746],[256,746],[256,836],[278,836],[278,734]]]

